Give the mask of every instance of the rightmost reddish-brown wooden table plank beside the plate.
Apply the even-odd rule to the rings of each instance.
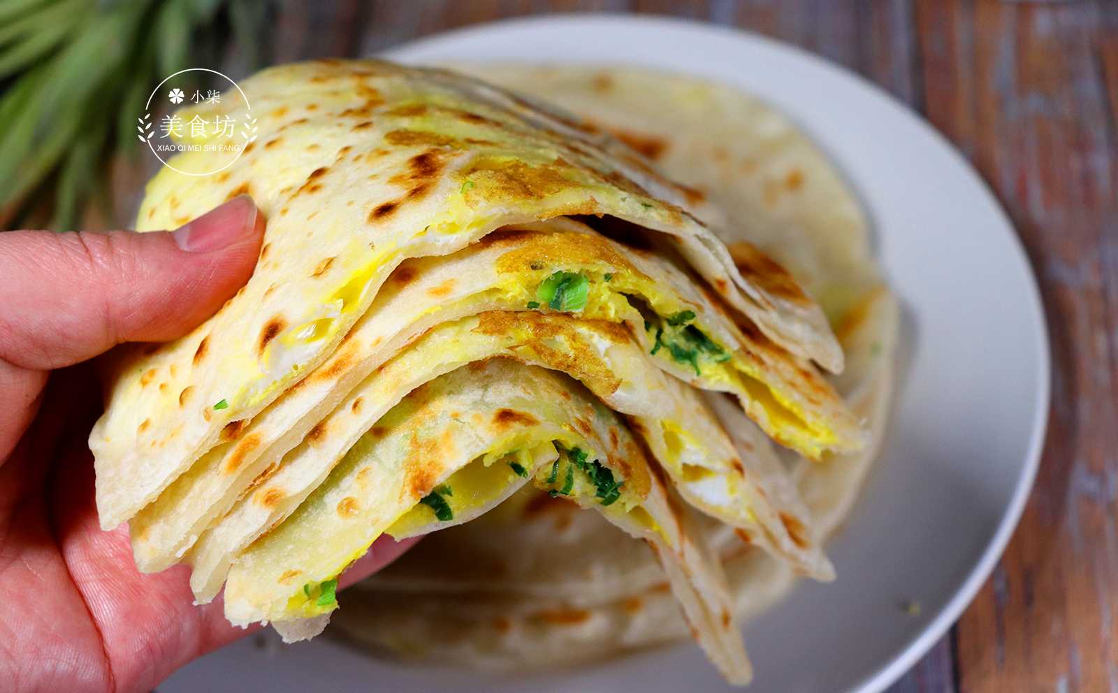
[[[1118,689],[1118,158],[1105,77],[1114,11],[919,4],[928,118],[1013,217],[1041,281],[1054,362],[1036,488],[956,628],[965,691]]]

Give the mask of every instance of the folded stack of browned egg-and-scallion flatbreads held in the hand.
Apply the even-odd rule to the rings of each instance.
[[[883,397],[859,393],[880,390],[865,383],[881,380],[888,296],[825,303],[847,316],[840,345],[758,247],[790,242],[765,224],[799,219],[707,199],[600,127],[459,74],[326,60],[241,88],[257,141],[212,176],[174,169],[214,154],[180,154],[138,225],[248,193],[268,219],[260,260],[192,334],[112,364],[89,439],[102,525],[129,522],[141,570],[189,563],[198,601],[224,584],[230,621],[287,639],[322,630],[338,575],[378,536],[434,533],[354,599],[358,630],[466,661],[533,647],[468,627],[480,609],[489,624],[542,622],[537,640],[623,643],[550,627],[572,620],[582,581],[615,631],[632,630],[643,590],[663,622],[682,611],[729,681],[748,681],[741,570],[720,559],[748,545],[773,558],[765,569],[833,577],[808,505],[841,515],[851,493],[827,470],[853,478],[878,436],[869,410]],[[861,233],[846,260],[868,272]],[[813,292],[877,284],[805,252],[819,262],[799,274]],[[856,367],[835,382],[853,410],[815,365],[841,372],[843,346]],[[823,461],[789,465],[770,439]],[[563,521],[562,539],[540,519],[556,508],[595,512]],[[562,558],[553,541],[568,542]],[[503,577],[479,570],[510,556]],[[462,633],[425,618],[466,592],[477,606]]]

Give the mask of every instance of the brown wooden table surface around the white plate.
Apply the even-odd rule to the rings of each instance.
[[[989,182],[1044,298],[1048,443],[993,577],[893,691],[1118,691],[1118,1],[286,2],[273,57],[603,10],[732,25],[845,65],[922,113]]]

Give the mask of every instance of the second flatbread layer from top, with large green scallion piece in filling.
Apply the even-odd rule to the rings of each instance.
[[[404,262],[323,364],[252,421],[228,424],[224,442],[130,521],[136,565],[150,572],[181,560],[254,479],[389,357],[439,322],[486,310],[624,324],[655,366],[737,394],[776,440],[815,456],[861,444],[855,418],[826,381],[757,330],[739,329],[683,269],[580,222],[553,218]],[[625,396],[629,405],[619,409],[632,411],[646,394]]]

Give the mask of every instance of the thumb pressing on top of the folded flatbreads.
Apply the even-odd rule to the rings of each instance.
[[[241,196],[173,232],[0,234],[0,359],[47,371],[179,337],[248,280],[263,232]]]

